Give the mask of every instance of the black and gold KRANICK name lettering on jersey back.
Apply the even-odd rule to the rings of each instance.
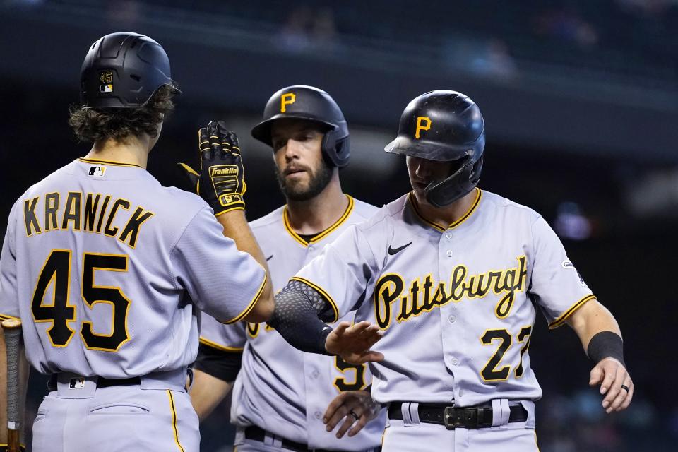
[[[113,225],[119,210],[129,210],[131,203],[123,198],[111,195],[69,191],[64,196],[58,192],[44,195],[42,211],[38,213],[37,204],[43,196],[23,201],[23,219],[26,236],[54,230],[73,230],[105,234],[117,237],[120,242],[136,247],[141,225],[155,215],[150,210],[138,206],[126,221],[124,227]],[[84,202],[83,202],[84,198]],[[42,224],[40,222],[42,220]]]

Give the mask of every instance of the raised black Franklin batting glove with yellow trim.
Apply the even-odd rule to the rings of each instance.
[[[198,131],[198,149],[200,172],[179,163],[196,193],[210,205],[215,215],[243,210],[247,185],[235,132],[228,131],[222,121],[210,121],[206,128]]]

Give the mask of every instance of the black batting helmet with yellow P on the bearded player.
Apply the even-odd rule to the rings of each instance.
[[[328,126],[321,149],[326,160],[337,167],[348,165],[348,126],[337,102],[313,86],[294,85],[272,95],[263,109],[263,121],[254,126],[252,136],[273,146],[270,127],[283,118],[306,119]]]

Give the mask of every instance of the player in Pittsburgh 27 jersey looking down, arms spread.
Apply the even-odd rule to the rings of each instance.
[[[276,296],[270,324],[295,347],[371,361],[385,451],[537,451],[537,307],[550,328],[576,331],[603,408],[631,403],[617,322],[539,214],[477,188],[483,150],[468,97],[412,100],[386,146],[407,155],[410,194],[347,229]],[[319,320],[356,308],[355,326]]]

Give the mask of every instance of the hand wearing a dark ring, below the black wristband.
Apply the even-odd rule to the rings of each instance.
[[[634,382],[626,371],[626,367],[614,358],[602,359],[591,370],[589,386],[600,384],[602,408],[608,414],[613,411],[626,410],[634,398]]]

